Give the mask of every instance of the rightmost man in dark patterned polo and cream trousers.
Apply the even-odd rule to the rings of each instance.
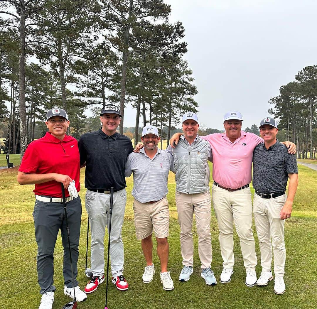
[[[286,259],[284,222],[292,213],[292,205],[298,185],[296,157],[276,139],[275,119],[267,117],[260,123],[264,143],[253,152],[253,214],[260,243],[262,273],[258,286],[266,286],[273,279],[271,272],[272,245],[274,253],[274,292],[283,294]],[[288,184],[288,196],[285,194]],[[271,243],[272,239],[272,243]]]

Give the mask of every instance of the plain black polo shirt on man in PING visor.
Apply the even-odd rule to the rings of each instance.
[[[114,187],[118,191],[126,187],[126,159],[133,152],[130,138],[117,132],[108,136],[100,129],[81,135],[78,148],[80,164],[86,162],[87,189]]]

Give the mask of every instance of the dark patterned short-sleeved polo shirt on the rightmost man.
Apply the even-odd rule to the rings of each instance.
[[[296,156],[288,153],[284,144],[276,143],[266,149],[264,143],[253,151],[253,188],[263,194],[286,190],[288,174],[298,174]]]

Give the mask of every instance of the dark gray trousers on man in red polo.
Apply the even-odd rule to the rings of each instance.
[[[45,203],[38,200],[35,202],[33,217],[37,242],[37,277],[41,287],[41,294],[56,290],[53,285],[54,248],[59,230],[61,230],[61,239],[64,247],[64,283],[67,287],[73,286],[63,207],[63,203]],[[67,203],[67,219],[74,280],[75,286],[77,286],[78,244],[81,226],[81,200],[79,196]]]

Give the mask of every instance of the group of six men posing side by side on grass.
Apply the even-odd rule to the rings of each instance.
[[[93,276],[84,292],[78,286],[77,261],[81,224],[80,197],[66,190],[70,247],[77,301],[83,301],[105,280],[104,236],[109,225],[110,188],[114,188],[110,259],[112,282],[119,290],[127,290],[123,276],[124,252],[121,237],[126,206],[126,181],[133,173],[133,211],[137,239],[146,260],[142,280],[150,283],[155,274],[152,261],[152,233],[157,241],[160,261],[160,280],[165,290],[174,288],[168,271],[169,208],[166,195],[169,171],[176,180],[176,206],[180,225],[183,268],[180,281],[187,281],[193,273],[193,214],[196,218],[198,253],[201,277],[208,285],[217,284],[211,270],[211,195],[210,169],[213,162],[212,201],[219,226],[219,241],[223,258],[220,282],[227,283],[233,274],[233,223],[240,238],[247,286],[267,285],[272,280],[272,244],[274,253],[274,292],[285,291],[284,220],[289,218],[297,188],[297,164],[294,144],[288,149],[276,139],[274,119],[265,118],[260,124],[262,138],[241,131],[242,115],[233,111],[225,114],[225,132],[205,137],[197,134],[199,124],[195,113],[182,118],[183,134],[172,137],[171,145],[160,150],[159,132],[155,126],[142,131],[142,146],[133,152],[131,140],[116,132],[120,124],[120,110],[108,104],[101,109],[99,131],[83,134],[78,143],[66,135],[69,120],[60,108],[47,112],[49,132],[32,142],[23,157],[18,172],[20,184],[35,184],[36,203],[34,224],[38,245],[37,272],[42,299],[39,309],[51,309],[54,301],[53,260],[59,229],[64,247],[64,293],[74,299],[67,232],[63,214],[61,184],[64,188],[80,190],[80,168],[86,166],[85,206],[91,224],[91,271]],[[175,143],[173,143],[173,141]],[[289,146],[289,143],[284,143]],[[138,152],[139,150],[139,152]],[[54,154],[54,155],[52,155]],[[249,183],[253,167],[255,198],[253,212],[260,242],[262,273],[257,279],[255,242],[252,232],[252,203]],[[285,194],[290,179],[288,196]],[[272,244],[271,244],[272,239]]]

